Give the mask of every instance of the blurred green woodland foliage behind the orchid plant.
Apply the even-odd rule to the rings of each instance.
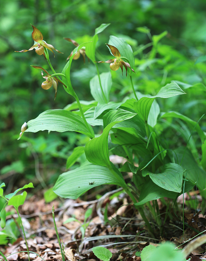
[[[75,47],[63,37],[81,44],[91,39],[96,27],[111,23],[99,35],[96,59],[105,59],[102,55],[110,59],[105,45],[109,35],[125,38],[137,54],[134,68],[137,75],[133,79],[137,90],[153,95],[171,80],[191,85],[205,84],[205,63],[195,65],[197,58],[205,55],[205,0],[7,0],[0,2],[0,10],[0,179],[4,182],[13,184],[22,175],[33,179],[37,169],[41,169],[44,179],[49,171],[47,180],[54,183],[65,170],[70,151],[85,142],[79,134],[48,135],[46,131],[27,133],[17,141],[24,122],[44,110],[63,109],[74,102],[73,97],[65,95],[60,84],[55,101],[53,88],[41,88],[44,80],[41,70],[30,65],[41,66],[50,72],[43,55],[38,56],[34,50],[14,52],[28,50],[34,44],[30,24],[42,32],[47,43],[64,53],[54,51],[55,58],[50,53],[51,63],[57,72],[62,71],[66,58]],[[147,34],[137,30],[137,27],[144,26],[151,30],[151,35],[168,32],[155,53],[150,52],[151,47],[139,52],[141,46],[151,42]],[[105,64],[99,68],[101,72],[108,70]],[[86,60],[83,64],[82,57],[73,62],[72,84],[80,100],[93,99],[89,80],[95,74],[92,62]],[[121,95],[128,94],[128,89],[123,86],[127,86],[129,78],[122,76],[120,71],[112,72],[112,76],[112,99],[118,100]],[[178,102],[174,97],[167,101],[159,100],[159,104],[164,111],[175,107],[175,110],[198,121],[205,112],[205,92],[196,93],[188,89],[187,93]],[[206,131],[205,123],[203,128]]]

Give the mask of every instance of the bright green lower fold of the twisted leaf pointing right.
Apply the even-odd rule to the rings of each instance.
[[[142,97],[137,102],[134,102],[134,110],[138,113],[139,117],[147,121],[150,108],[155,98]]]

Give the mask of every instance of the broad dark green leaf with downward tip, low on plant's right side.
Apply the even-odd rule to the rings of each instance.
[[[154,174],[149,172],[151,180],[161,188],[169,191],[181,192],[183,169],[176,163],[168,163],[163,166],[161,173]]]

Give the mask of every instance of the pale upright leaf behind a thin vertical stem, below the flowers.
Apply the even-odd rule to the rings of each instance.
[[[103,92],[106,97],[106,103],[110,101],[110,90],[112,87],[112,76],[111,73],[101,73],[100,74],[100,80],[101,80],[101,86],[103,89]],[[91,94],[93,98],[100,102],[100,103],[105,103],[104,97],[102,95],[102,90],[99,84],[99,78],[98,75],[95,75],[89,82]]]

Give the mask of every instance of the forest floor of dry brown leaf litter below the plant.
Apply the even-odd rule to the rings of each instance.
[[[158,246],[161,242],[171,241],[179,246],[197,235],[197,230],[203,232],[206,229],[206,218],[201,212],[195,214],[195,212],[185,209],[185,223],[190,228],[184,226],[183,233],[183,223],[177,217],[173,220],[166,218],[164,230],[162,230],[163,227],[159,228],[155,221],[152,223],[150,220],[156,231],[156,239],[153,239],[145,229],[144,221],[130,203],[129,198],[124,193],[117,192],[118,190],[108,192],[99,200],[92,201],[67,199],[63,202],[54,200],[45,203],[42,196],[36,195],[25,201],[19,210],[28,238],[29,250],[33,252],[30,253],[30,260],[62,260],[52,216],[53,205],[56,226],[64,245],[65,260],[70,261],[99,260],[92,252],[94,246],[108,248],[113,254],[111,261],[141,261],[141,250],[149,244]],[[115,193],[117,196],[112,197]],[[188,195],[185,193],[186,197]],[[161,205],[161,201],[158,201],[158,204],[164,221],[165,206]],[[178,198],[177,204],[179,209],[183,209],[182,197]],[[7,208],[7,211],[11,210],[11,206],[7,206]],[[89,208],[92,209],[91,215],[85,221],[85,212]],[[107,215],[102,213],[102,209],[105,208]],[[172,207],[170,211],[173,212]],[[181,214],[178,213],[180,216]],[[15,218],[16,214],[13,214],[12,217]],[[65,223],[69,218],[69,222]],[[85,235],[82,239],[84,232]],[[179,248],[184,246],[185,244]],[[0,246],[0,250],[8,261],[28,260],[23,236],[13,244]],[[192,251],[192,255],[191,260],[195,261],[201,260],[199,257],[206,258],[205,245]]]

